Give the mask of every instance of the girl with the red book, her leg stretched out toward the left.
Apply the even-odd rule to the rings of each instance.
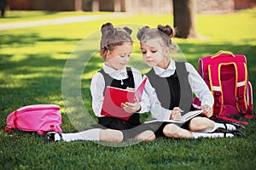
[[[133,48],[131,29],[115,28],[111,23],[102,26],[101,55],[105,60],[103,67],[93,77],[90,84],[92,109],[98,117],[96,128],[80,133],[47,133],[47,141],[95,140],[107,142],[122,142],[130,140],[154,140],[154,132],[147,126],[139,126],[139,113],[148,111],[148,105],[143,99],[122,104],[123,110],[130,114],[126,120],[122,117],[102,114],[102,103],[107,86],[115,88],[137,88],[142,82],[141,73],[134,68],[126,67]],[[108,116],[106,116],[108,115]]]

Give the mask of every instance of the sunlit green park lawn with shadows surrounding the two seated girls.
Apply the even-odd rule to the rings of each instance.
[[[10,1],[12,2],[12,1]],[[18,2],[18,1],[17,1]],[[135,1],[137,2],[137,1]],[[151,2],[151,1],[150,1]],[[249,1],[246,1],[249,2]],[[253,2],[253,1],[251,1]],[[249,6],[248,6],[249,7]],[[140,7],[137,7],[140,8]],[[142,7],[141,7],[142,8]],[[148,9],[149,10],[149,9]],[[0,162],[1,169],[254,169],[256,167],[256,122],[243,131],[245,139],[156,139],[126,147],[109,147],[94,142],[46,143],[44,135],[18,130],[6,133],[10,112],[36,104],[61,106],[62,129],[77,132],[67,115],[62,98],[63,74],[74,52],[89,49],[90,37],[100,37],[102,24],[131,26],[136,35],[141,26],[173,26],[173,14],[151,9],[137,12],[84,12],[52,10],[5,11],[0,19]],[[60,22],[60,23],[58,23]],[[183,57],[195,68],[200,57],[228,50],[247,56],[253,94],[256,96],[256,8],[205,11],[196,14],[199,37],[174,38]],[[141,61],[139,43],[134,36],[131,66]],[[99,45],[99,44],[98,44]],[[90,108],[90,80],[102,66],[99,46],[82,51],[87,65],[80,77],[83,105]],[[91,54],[91,55],[86,55]],[[141,65],[139,65],[141,66]],[[67,69],[67,68],[66,68]],[[148,68],[142,65],[144,73]],[[74,76],[75,77],[75,76]],[[64,84],[65,86],[65,84]],[[253,99],[255,101],[255,97]],[[255,103],[255,102],[254,102]],[[255,115],[255,104],[253,104]],[[147,115],[148,116],[148,115]],[[94,117],[95,118],[95,117]],[[142,117],[146,119],[147,117]]]

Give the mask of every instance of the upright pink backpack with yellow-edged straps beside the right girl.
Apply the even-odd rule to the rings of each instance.
[[[238,121],[229,116],[244,116],[253,119],[253,91],[247,73],[247,60],[244,55],[229,51],[218,51],[199,59],[198,72],[207,82],[214,97],[213,119],[230,122]],[[200,100],[195,97],[195,108],[200,108]]]

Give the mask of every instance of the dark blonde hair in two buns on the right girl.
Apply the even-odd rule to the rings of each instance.
[[[137,39],[140,42],[146,43],[149,39],[160,38],[164,46],[175,50],[177,47],[172,43],[172,37],[175,37],[175,30],[169,25],[158,25],[157,28],[143,26],[143,28],[137,32]]]

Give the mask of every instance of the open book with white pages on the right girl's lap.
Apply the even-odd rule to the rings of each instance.
[[[144,123],[150,123],[150,122],[184,123],[184,122],[189,121],[193,117],[200,115],[202,112],[204,112],[204,111],[202,111],[202,110],[200,110],[200,111],[189,111],[188,113],[185,113],[183,116],[181,116],[180,119],[176,119],[176,120],[153,120],[153,121],[148,121],[148,122],[144,122]]]

